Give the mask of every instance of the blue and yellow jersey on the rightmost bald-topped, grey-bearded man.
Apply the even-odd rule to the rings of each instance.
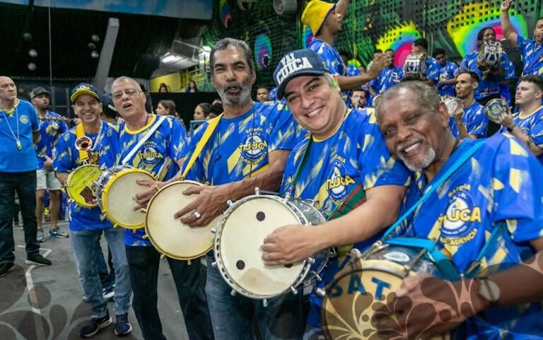
[[[436,177],[474,143],[462,141]],[[482,253],[481,267],[492,273],[518,264],[535,254],[529,242],[543,236],[542,171],[517,139],[495,134],[408,218],[407,234],[436,242],[459,273],[465,273],[497,230],[498,238]],[[413,178],[405,208],[432,184],[420,172]],[[467,334],[458,339],[535,339],[509,336],[538,334],[530,332],[543,329],[541,303],[489,309],[484,314],[469,319],[459,329]]]

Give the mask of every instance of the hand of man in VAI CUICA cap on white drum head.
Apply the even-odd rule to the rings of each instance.
[[[262,259],[267,266],[292,264],[308,259],[319,251],[312,225],[284,225],[264,239]]]

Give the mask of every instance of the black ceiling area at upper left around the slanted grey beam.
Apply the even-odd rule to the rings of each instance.
[[[0,74],[14,78],[49,78],[49,8],[0,3]],[[140,16],[103,11],[51,8],[52,78],[95,76],[98,58],[92,58],[91,36],[100,52],[108,18],[119,19],[119,33],[110,76],[149,78],[168,52],[178,30],[187,31],[205,21]],[[182,29],[180,29],[182,28]],[[30,33],[32,38],[28,40]],[[179,33],[177,33],[179,35]],[[36,57],[29,55],[35,49]],[[34,63],[34,71],[28,64]]]

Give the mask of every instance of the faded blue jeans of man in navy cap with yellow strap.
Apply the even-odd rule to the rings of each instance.
[[[99,242],[102,233],[111,249],[115,268],[115,305],[113,306],[115,315],[128,312],[132,294],[127,254],[124,252],[124,229],[70,230],[71,249],[76,258],[79,281],[83,287],[86,302],[91,305],[93,317],[104,317],[107,310],[107,300],[102,294],[102,283],[96,262],[97,252],[101,251],[96,247],[96,242]]]

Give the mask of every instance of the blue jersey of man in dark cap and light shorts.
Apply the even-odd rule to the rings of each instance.
[[[56,112],[47,110],[45,117],[62,118]],[[53,148],[57,145],[57,140],[61,134],[68,131],[68,125],[62,120],[45,119],[40,121],[40,140],[36,144],[37,168],[42,169],[45,162],[45,156],[53,159]]]

